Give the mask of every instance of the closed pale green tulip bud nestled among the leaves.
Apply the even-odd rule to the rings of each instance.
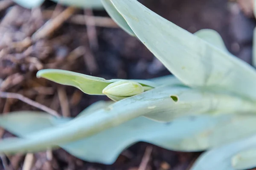
[[[105,87],[102,93],[107,96],[130,97],[140,94],[143,91],[144,88],[140,83],[129,80],[120,80]]]

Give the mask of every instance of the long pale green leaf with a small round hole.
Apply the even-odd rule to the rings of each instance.
[[[179,101],[175,102],[170,97],[172,95],[178,96]],[[252,102],[228,94],[218,94],[216,91],[213,93],[180,86],[162,86],[120,100],[107,108],[79,116],[67,123],[41,130],[40,133],[31,133],[29,139],[5,139],[0,142],[0,152],[45,150],[56,147],[57,144],[63,145],[93,136],[138,116],[169,122],[184,116],[244,113],[253,112],[255,109]],[[15,142],[15,145],[9,140]]]

